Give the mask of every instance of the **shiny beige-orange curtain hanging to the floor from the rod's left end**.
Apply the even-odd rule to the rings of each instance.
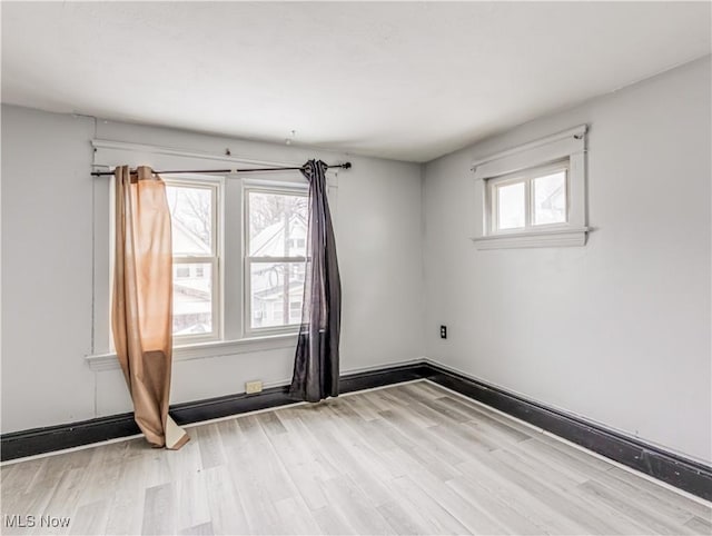
[[[172,357],[172,250],[166,185],[148,167],[116,168],[111,324],[136,424],[155,447],[189,437],[168,416]]]

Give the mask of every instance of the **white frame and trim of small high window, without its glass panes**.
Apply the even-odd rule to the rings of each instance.
[[[578,127],[473,162],[475,202],[482,210],[472,240],[477,249],[584,246],[586,225],[586,132]],[[532,181],[566,167],[566,221],[533,225]],[[525,227],[498,229],[496,188],[525,183]]]

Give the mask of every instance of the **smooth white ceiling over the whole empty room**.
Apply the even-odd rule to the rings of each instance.
[[[1,9],[3,102],[412,161],[711,47],[710,2]]]

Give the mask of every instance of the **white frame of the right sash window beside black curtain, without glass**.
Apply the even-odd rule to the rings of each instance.
[[[274,193],[283,196],[300,196],[307,197],[308,189],[305,186],[270,186],[268,182],[259,182],[257,180],[249,181],[243,188],[243,205],[244,210],[244,238],[243,238],[243,288],[245,289],[243,298],[243,329],[244,332],[249,336],[258,335],[278,335],[278,334],[296,334],[299,330],[299,322],[287,324],[285,326],[268,326],[261,328],[254,328],[251,326],[251,265],[254,262],[304,262],[306,264],[306,257],[253,257],[249,255],[249,195],[251,192]],[[290,315],[289,315],[290,316]]]

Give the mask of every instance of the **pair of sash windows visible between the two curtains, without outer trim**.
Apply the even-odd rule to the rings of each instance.
[[[164,180],[172,228],[175,344],[219,340],[225,332],[245,338],[296,331],[306,185],[208,176]],[[222,206],[238,208],[243,217],[225,214]]]

